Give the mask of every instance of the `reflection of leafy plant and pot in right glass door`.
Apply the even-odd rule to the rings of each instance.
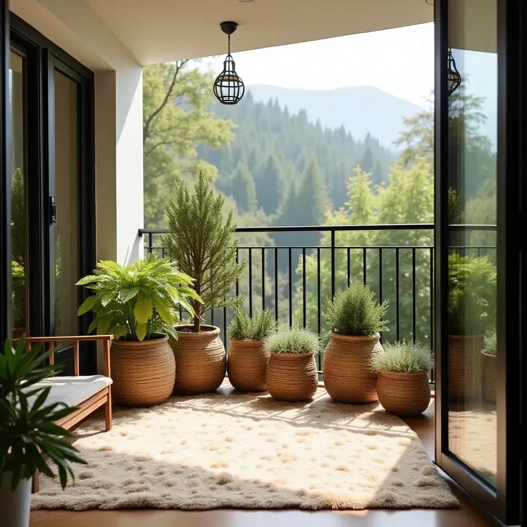
[[[448,386],[454,398],[475,394],[483,335],[496,315],[496,266],[487,256],[448,257]]]

